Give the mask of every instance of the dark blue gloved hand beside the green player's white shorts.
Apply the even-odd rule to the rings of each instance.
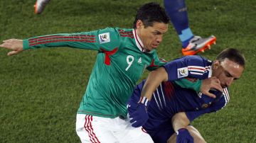
[[[149,101],[146,97],[141,98],[137,105],[137,110],[134,113],[129,115],[130,122],[132,123],[132,127],[140,127],[146,123],[149,119],[149,115],[147,113],[147,106]]]

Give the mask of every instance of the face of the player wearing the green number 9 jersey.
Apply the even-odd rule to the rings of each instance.
[[[168,30],[168,24],[154,22],[152,26],[145,28],[142,21],[137,21],[137,33],[144,45],[144,49],[151,51],[163,40],[164,33]]]

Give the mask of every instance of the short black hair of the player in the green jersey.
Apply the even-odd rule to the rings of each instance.
[[[134,29],[136,28],[138,20],[141,20],[144,23],[145,28],[153,26],[154,22],[169,23],[169,17],[166,15],[164,8],[154,2],[144,4],[139,8],[134,20]]]

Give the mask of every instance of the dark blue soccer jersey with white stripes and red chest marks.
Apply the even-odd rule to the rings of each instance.
[[[205,113],[212,113],[225,107],[229,101],[228,89],[224,93],[210,91],[216,98],[210,98],[188,88],[178,86],[176,79],[186,78],[191,82],[197,79],[208,79],[211,76],[211,64],[200,56],[187,56],[169,62],[164,67],[169,81],[162,82],[152,95],[148,107],[149,120],[143,126],[155,142],[166,142],[174,134],[171,118],[179,112],[186,112],[190,121]],[[196,79],[195,79],[196,78]],[[129,99],[128,112],[133,113],[141,96],[145,81],[137,85]]]

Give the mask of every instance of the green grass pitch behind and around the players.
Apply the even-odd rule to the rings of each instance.
[[[37,16],[35,0],[1,0],[0,40],[132,28],[137,8],[146,2],[53,0]],[[226,47],[236,47],[247,59],[244,74],[230,88],[230,103],[192,125],[207,142],[256,142],[256,1],[190,0],[186,4],[193,33],[217,37],[217,45],[201,55],[214,59]],[[166,60],[181,57],[181,43],[171,24],[158,51]],[[68,47],[28,50],[12,57],[7,52],[0,48],[0,142],[80,142],[75,115],[97,52]]]

